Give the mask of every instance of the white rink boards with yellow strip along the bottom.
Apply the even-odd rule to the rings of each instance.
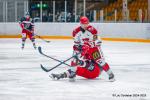
[[[150,42],[150,23],[91,23],[103,40]],[[35,23],[35,34],[49,39],[72,39],[79,23]],[[0,23],[0,38],[19,38],[18,23]]]

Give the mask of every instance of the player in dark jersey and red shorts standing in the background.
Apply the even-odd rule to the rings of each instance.
[[[22,17],[21,20],[19,21],[19,24],[22,28],[22,33],[21,33],[22,47],[21,48],[24,49],[25,41],[27,37],[29,37],[33,43],[33,47],[36,49],[35,36],[34,36],[34,22],[30,18],[29,12],[26,12],[25,16]]]

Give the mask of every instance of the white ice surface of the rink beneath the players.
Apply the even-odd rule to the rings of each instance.
[[[57,59],[72,55],[72,40],[36,43]],[[29,40],[21,50],[20,39],[0,39],[0,100],[150,100],[150,44],[103,41],[102,49],[115,82],[109,82],[105,72],[95,80],[53,81],[49,74],[68,67],[46,73],[40,64],[51,68],[58,62],[40,55]]]

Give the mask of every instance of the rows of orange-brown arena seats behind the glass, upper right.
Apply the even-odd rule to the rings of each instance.
[[[109,4],[104,7],[104,19],[107,21],[114,20],[114,10],[117,10],[117,21],[123,20],[122,16],[122,0],[117,0],[114,3]],[[138,11],[142,9],[143,20],[146,20],[147,9],[148,9],[148,0],[130,0],[128,3],[129,9],[129,20],[137,21],[139,20]]]

